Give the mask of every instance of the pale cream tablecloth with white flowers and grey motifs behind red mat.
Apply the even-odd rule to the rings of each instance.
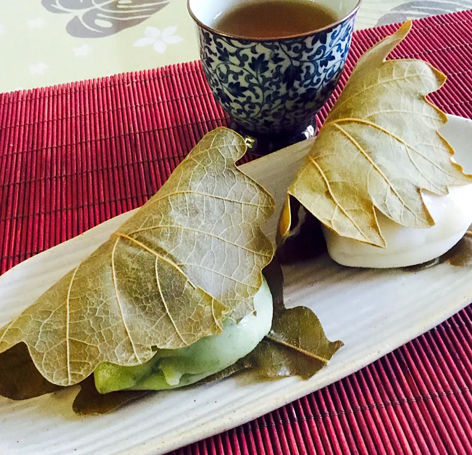
[[[364,0],[356,29],[472,8]],[[186,0],[15,0],[0,9],[0,92],[198,59]]]

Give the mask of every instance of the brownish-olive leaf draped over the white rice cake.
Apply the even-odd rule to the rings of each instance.
[[[421,190],[445,195],[449,185],[472,182],[438,133],[445,114],[425,98],[446,77],[424,61],[385,60],[410,29],[405,23],[359,59],[288,190],[340,236],[381,247],[376,210],[403,226],[427,228],[434,220]],[[282,241],[289,211],[286,204]]]

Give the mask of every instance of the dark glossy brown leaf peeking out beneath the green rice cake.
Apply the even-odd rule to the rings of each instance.
[[[255,370],[263,379],[298,375],[303,379],[320,371],[343,346],[329,341],[320,321],[309,308],[286,309],[283,302],[283,273],[276,258],[264,269],[272,293],[274,319],[270,333],[246,357],[199,382],[220,381],[243,370]],[[105,414],[138,399],[148,391],[119,391],[99,394],[90,376],[80,383],[73,410],[79,415]]]

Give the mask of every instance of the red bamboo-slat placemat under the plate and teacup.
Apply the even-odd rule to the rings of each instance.
[[[397,28],[354,33],[340,87]],[[449,79],[431,99],[472,117],[471,11],[416,21],[393,57],[441,69]],[[196,62],[1,94],[0,273],[142,205],[226,124]],[[174,454],[472,454],[471,388],[469,306],[346,379]]]

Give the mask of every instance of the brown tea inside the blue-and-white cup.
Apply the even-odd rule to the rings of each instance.
[[[316,1],[259,0],[224,11],[214,28],[227,35],[279,38],[323,29],[338,20],[333,10]]]

